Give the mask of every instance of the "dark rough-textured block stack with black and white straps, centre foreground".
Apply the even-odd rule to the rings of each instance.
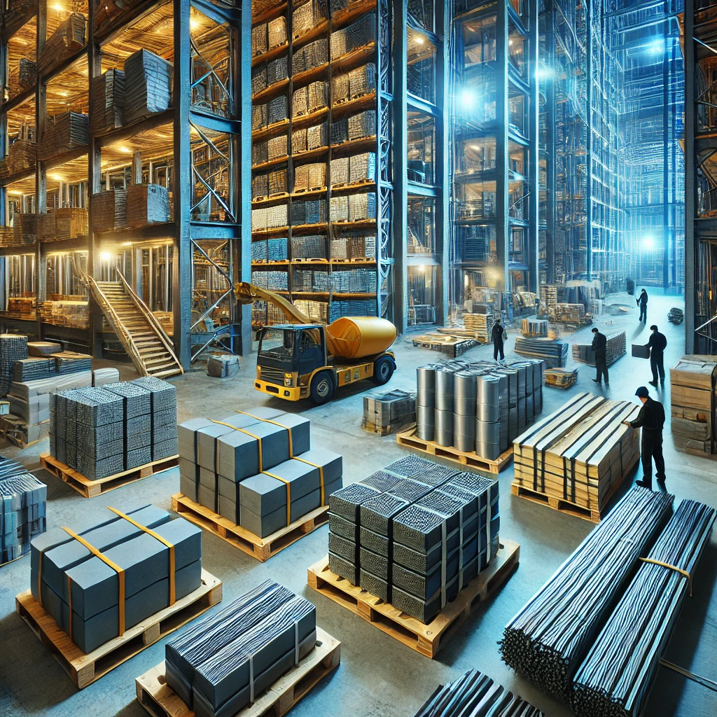
[[[488,566],[499,527],[496,480],[409,456],[331,495],[329,568],[427,623]]]

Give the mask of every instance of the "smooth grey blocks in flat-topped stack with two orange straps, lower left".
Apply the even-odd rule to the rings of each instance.
[[[153,505],[120,508],[134,523],[174,545],[175,600],[201,585],[201,528],[171,519]],[[165,543],[110,510],[75,533],[124,571],[125,630],[170,604],[170,561]],[[120,635],[117,573],[62,528],[31,543],[32,596],[83,652]],[[71,634],[70,634],[71,630]]]

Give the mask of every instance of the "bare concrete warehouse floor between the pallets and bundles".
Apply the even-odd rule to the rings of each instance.
[[[627,331],[628,354],[633,341],[647,343],[649,329],[637,323],[634,300],[627,295],[614,297],[629,303],[630,315],[603,316],[595,325],[612,333]],[[667,312],[679,299],[650,298],[650,320],[663,328],[668,338],[665,365],[671,366],[682,355],[684,328],[668,324]],[[508,337],[507,358],[514,357],[515,332]],[[581,341],[592,339],[590,328],[574,336]],[[492,357],[491,347],[478,347],[466,358]],[[415,369],[440,355],[412,348],[407,340],[396,346],[399,371],[390,386],[415,390]],[[211,379],[201,369],[191,371],[176,381],[179,391],[179,420],[194,416],[221,417],[233,409],[249,409],[266,404],[300,412],[312,422],[312,442],[343,455],[344,484],[366,477],[374,470],[404,455],[395,438],[384,438],[364,432],[360,427],[363,410],[362,391],[356,388],[340,394],[325,407],[311,408],[268,399],[252,388],[255,359],[244,360],[242,371],[234,379]],[[123,367],[123,379],[133,371]],[[593,369],[581,366],[578,384],[570,393],[592,391]],[[635,388],[650,380],[646,361],[625,356],[610,369],[611,398],[632,400]],[[669,382],[663,396],[669,406]],[[568,392],[543,389],[543,414],[558,409]],[[668,410],[669,414],[669,410]],[[695,498],[717,505],[717,462],[675,452],[669,429],[665,430],[665,458],[668,490],[677,499]],[[47,450],[47,440],[24,451],[4,453],[35,469],[37,456]],[[121,506],[125,498],[143,498],[169,509],[169,497],[179,490],[179,473],[172,470],[157,477],[132,483],[114,490],[104,498],[86,500],[60,480],[47,479],[48,526],[72,525],[78,511],[88,515],[105,505]],[[383,632],[356,617],[348,610],[320,596],[306,584],[306,568],[326,555],[326,526],[298,541],[265,564],[260,564],[232,548],[210,533],[204,533],[204,567],[224,581],[224,600],[229,601],[270,577],[313,601],[318,623],[341,640],[341,665],[323,680],[293,710],[296,717],[345,716],[409,717],[428,698],[439,683],[456,678],[469,668],[487,673],[505,687],[517,691],[549,717],[564,717],[569,710],[508,669],[501,661],[496,642],[503,627],[544,581],[592,530],[593,525],[580,518],[566,516],[549,508],[513,497],[510,484],[512,466],[500,474],[500,534],[521,543],[521,562],[493,599],[475,609],[452,640],[446,643],[437,660],[429,660],[400,644]],[[640,477],[640,471],[637,473]],[[628,480],[627,485],[630,484]],[[101,680],[78,692],[49,652],[31,634],[14,612],[14,596],[29,587],[29,556],[0,570],[0,716],[46,715],[141,717],[143,708],[135,701],[134,679],[163,660],[164,648],[158,643],[120,665]],[[694,580],[694,597],[685,603],[682,617],[665,657],[683,668],[717,680],[717,536],[706,552]],[[660,668],[647,706],[648,717],[717,715],[717,693],[685,680],[678,674]]]

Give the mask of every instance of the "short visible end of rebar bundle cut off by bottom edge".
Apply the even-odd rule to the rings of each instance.
[[[544,717],[543,713],[478,670],[439,687],[415,717]]]

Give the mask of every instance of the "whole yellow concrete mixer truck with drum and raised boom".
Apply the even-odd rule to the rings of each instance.
[[[234,294],[242,304],[272,303],[288,319],[259,333],[257,391],[288,401],[308,398],[320,406],[342,386],[364,379],[381,386],[396,370],[394,353],[386,350],[396,339],[396,327],[384,318],[344,316],[325,326],[284,297],[252,284],[238,283]]]

